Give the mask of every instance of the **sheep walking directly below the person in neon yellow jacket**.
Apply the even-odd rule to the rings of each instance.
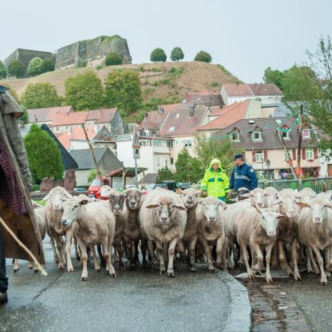
[[[196,210],[196,219],[199,225],[198,240],[203,246],[208,259],[208,270],[214,271],[211,252],[208,242],[216,242],[216,267],[221,268],[221,256],[225,244],[225,208],[227,205],[214,197],[205,197],[199,201]],[[223,268],[227,269],[225,255],[223,255]]]

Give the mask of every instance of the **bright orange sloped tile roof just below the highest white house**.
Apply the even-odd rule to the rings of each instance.
[[[245,118],[249,103],[250,99],[246,99],[243,102],[234,102],[234,104],[212,113],[211,116],[218,115],[219,117],[197,129],[197,131],[223,129]]]

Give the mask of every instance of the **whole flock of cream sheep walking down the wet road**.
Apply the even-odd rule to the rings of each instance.
[[[150,264],[169,277],[174,276],[179,255],[191,272],[196,261],[207,261],[211,272],[244,264],[250,279],[266,270],[266,282],[273,281],[270,268],[277,266],[301,279],[298,265],[305,262],[308,273],[320,273],[321,284],[327,284],[332,269],[331,192],[241,188],[239,200],[230,205],[202,199],[194,188],[181,194],[156,188],[144,195],[136,188],[119,193],[102,186],[100,194],[103,200],[91,201],[55,187],[44,198],[45,207],[34,205],[39,231],[42,238],[49,235],[60,269],[73,271],[74,240],[83,281],[88,279],[90,255],[95,270],[100,272],[104,264],[116,277],[112,252],[124,270],[123,256],[131,268],[140,264],[140,248],[142,265]],[[17,261],[14,269],[19,269]]]

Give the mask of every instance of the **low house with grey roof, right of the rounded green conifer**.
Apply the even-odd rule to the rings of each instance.
[[[76,149],[71,150],[69,153],[78,165],[78,169],[75,170],[76,186],[89,185],[89,174],[91,169],[95,168],[90,149]],[[93,154],[95,155],[98,168],[105,173],[123,166],[108,147],[95,148],[93,149]]]

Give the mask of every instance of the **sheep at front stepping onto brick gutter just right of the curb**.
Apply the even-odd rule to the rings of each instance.
[[[273,246],[277,241],[278,221],[283,215],[270,208],[261,209],[255,203],[252,208],[241,211],[237,216],[237,241],[241,247],[243,261],[246,266],[248,278],[255,277],[248,263],[247,246],[250,246],[253,254],[257,255],[257,264],[253,265],[253,270],[264,268],[264,256],[261,246],[266,247],[266,282],[273,282],[270,275],[270,259]]]

